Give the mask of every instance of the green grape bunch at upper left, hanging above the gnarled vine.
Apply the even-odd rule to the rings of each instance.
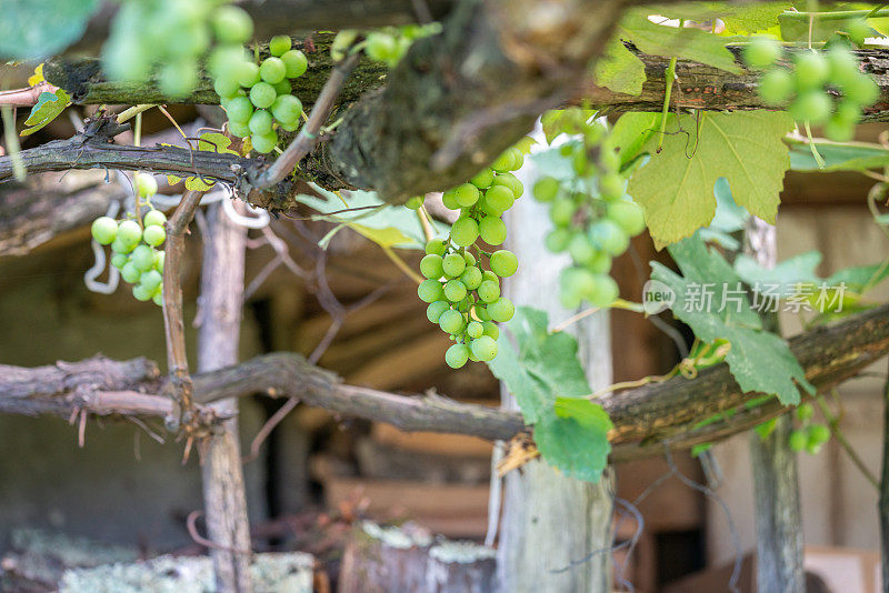
[[[257,63],[240,44],[249,38],[252,24],[230,34],[234,14],[249,16],[237,7],[226,9],[228,17],[213,21],[217,37],[227,36],[227,44],[210,58],[213,89],[228,114],[229,131],[238,138],[249,135],[253,150],[264,154],[278,144],[279,130],[299,128],[302,102],[291,93],[290,81],[306,72],[309,61],[302,51],[292,49],[288,36],[276,36],[269,42],[270,56]]]

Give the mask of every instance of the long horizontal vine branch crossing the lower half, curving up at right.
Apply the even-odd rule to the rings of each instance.
[[[790,340],[790,348],[806,370],[807,379],[820,391],[828,390],[889,352],[889,305],[797,335]],[[157,379],[157,369],[142,359],[127,362],[93,359],[60,364],[63,366],[0,366],[0,412],[54,413],[66,418],[73,410],[108,414],[112,412],[107,408],[91,409],[92,400],[87,396],[101,398],[107,391],[141,388],[144,398],[160,399],[151,394],[163,393],[166,389]],[[83,364],[87,371],[81,369]],[[7,380],[8,376],[12,381]],[[194,401],[199,404],[260,393],[299,398],[336,414],[387,422],[407,431],[507,440],[530,430],[515,412],[459,403],[439,395],[407,396],[344,385],[333,373],[291,353],[258,356],[236,366],[194,375],[192,380]],[[726,364],[706,369],[693,380],[675,378],[608,394],[601,403],[615,423],[611,459],[628,461],[660,455],[665,446],[683,449],[718,441],[785,411],[777,401],[747,410],[743,404],[751,396],[740,391]],[[198,405],[197,410],[203,411],[204,406]],[[696,430],[700,421],[729,410],[735,411],[729,418]],[[142,414],[142,409],[113,412]]]

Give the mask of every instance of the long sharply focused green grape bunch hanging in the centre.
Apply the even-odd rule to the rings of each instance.
[[[518,148],[508,149],[489,168],[469,182],[446,191],[442,201],[460,215],[451,225],[447,240],[432,239],[420,260],[426,278],[417,294],[429,303],[430,322],[456,342],[444,353],[444,362],[453,369],[467,363],[488,362],[497,356],[497,322],[512,319],[516,306],[501,296],[500,279],[519,269],[516,254],[506,249],[483,250],[481,243],[497,248],[507,239],[501,217],[525,191],[511,173],[521,168],[525,155]],[[422,199],[406,204],[418,209]],[[487,260],[488,270],[482,267]]]

